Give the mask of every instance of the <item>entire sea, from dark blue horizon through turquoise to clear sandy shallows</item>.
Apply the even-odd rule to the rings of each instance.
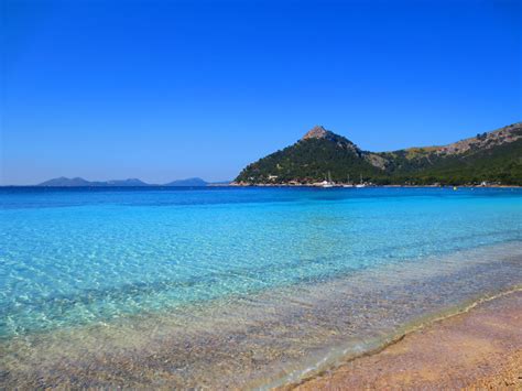
[[[274,384],[522,284],[514,188],[2,188],[0,222],[4,385]]]

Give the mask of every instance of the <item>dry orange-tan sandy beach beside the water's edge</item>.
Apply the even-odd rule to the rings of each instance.
[[[289,387],[522,390],[522,291],[406,335],[380,352]]]

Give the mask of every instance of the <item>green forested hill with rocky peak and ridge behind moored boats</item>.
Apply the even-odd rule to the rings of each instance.
[[[249,164],[239,184],[309,184],[331,175],[335,182],[377,184],[522,185],[522,123],[443,146],[369,152],[323,127],[314,127],[291,146]]]

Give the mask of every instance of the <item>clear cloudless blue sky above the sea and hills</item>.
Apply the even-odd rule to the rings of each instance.
[[[323,124],[363,150],[522,120],[519,0],[3,0],[0,184],[233,178]]]

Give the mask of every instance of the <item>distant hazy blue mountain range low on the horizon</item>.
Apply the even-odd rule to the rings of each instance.
[[[37,186],[48,187],[139,187],[139,186],[186,186],[186,187],[198,187],[209,185],[228,184],[228,182],[216,182],[210,183],[202,180],[200,177],[191,177],[186,180],[173,181],[163,185],[149,184],[138,178],[129,178],[121,181],[105,181],[105,182],[91,182],[81,177],[57,177],[54,180],[45,181]]]

